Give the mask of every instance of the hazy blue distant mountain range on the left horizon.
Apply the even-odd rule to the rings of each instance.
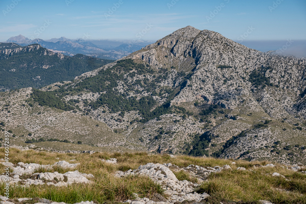
[[[102,59],[119,59],[131,54],[134,51],[140,50],[147,44],[123,43],[120,46],[114,47],[109,45],[96,45],[83,39],[72,40],[65,37],[52,38],[49,40],[43,39],[28,39],[23,35],[18,35],[9,38],[7,43],[16,43],[21,46],[30,44],[39,44],[52,52],[62,53],[64,55],[73,56],[76,54],[84,54],[90,57],[98,57]]]

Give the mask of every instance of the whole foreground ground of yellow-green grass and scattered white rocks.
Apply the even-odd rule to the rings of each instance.
[[[5,154],[4,148],[0,151]],[[18,149],[10,149],[9,161],[3,162],[0,169],[3,182],[3,165],[10,164],[7,204],[306,203],[306,168],[302,164],[282,166],[267,161],[175,158],[168,154],[60,154]],[[5,184],[0,195],[5,195],[4,187]]]

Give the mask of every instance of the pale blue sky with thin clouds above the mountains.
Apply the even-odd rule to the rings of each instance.
[[[306,40],[305,0],[1,0],[0,9],[0,41],[19,34],[156,41],[187,25],[237,42],[241,35],[243,40]]]

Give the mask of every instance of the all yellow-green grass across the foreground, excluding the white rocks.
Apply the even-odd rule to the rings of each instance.
[[[4,149],[0,148],[0,154],[4,154]],[[10,162],[17,164],[24,163],[53,164],[58,159],[76,161],[70,163],[80,163],[75,169],[61,169],[54,167],[52,169],[36,169],[36,172],[54,172],[61,173],[68,170],[78,170],[83,173],[91,173],[95,176],[93,184],[74,184],[69,187],[54,186],[30,186],[12,187],[11,196],[20,197],[40,197],[47,198],[56,202],[76,203],[86,200],[94,200],[98,203],[106,201],[120,202],[132,199],[133,194],[137,193],[140,197],[151,197],[155,193],[163,194],[160,185],[147,177],[132,176],[126,178],[114,177],[116,170],[126,171],[137,169],[140,165],[147,163],[172,163],[179,167],[188,165],[199,165],[203,167],[214,167],[230,165],[232,169],[244,167],[252,171],[222,171],[221,173],[208,176],[208,182],[203,183],[201,187],[195,189],[198,192],[207,192],[214,198],[223,201],[244,201],[252,202],[259,199],[270,200],[275,204],[280,203],[306,203],[306,175],[293,172],[277,165],[274,168],[254,169],[254,165],[266,165],[267,161],[248,162],[243,160],[224,160],[216,158],[195,158],[189,156],[177,156],[170,158],[167,154],[148,155],[147,153],[94,153],[94,154],[60,154],[52,152],[36,152],[34,150],[21,151],[10,149]],[[117,158],[116,165],[102,162],[101,159]],[[236,164],[231,164],[235,161]],[[275,164],[275,163],[274,163]],[[0,166],[0,173],[4,168]],[[271,173],[278,172],[287,179],[272,177]],[[175,172],[179,180],[189,180],[193,183],[193,178],[185,171]],[[285,190],[280,190],[285,189]],[[3,194],[3,188],[0,189]]]

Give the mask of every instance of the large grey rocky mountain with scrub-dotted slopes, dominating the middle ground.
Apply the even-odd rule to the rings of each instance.
[[[305,69],[304,58],[252,50],[188,26],[61,86],[2,93],[0,120],[16,143],[33,136],[33,142],[103,140],[78,127],[46,131],[61,127],[51,125],[51,117],[77,123],[90,118],[118,138],[93,144],[99,147],[305,162]],[[15,101],[17,95],[23,99]],[[54,108],[62,111],[56,117]]]

